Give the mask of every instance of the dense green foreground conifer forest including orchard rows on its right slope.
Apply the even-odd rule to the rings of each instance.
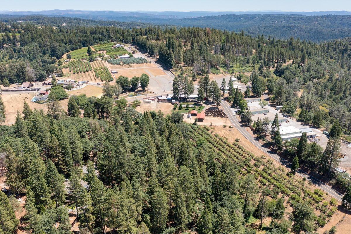
[[[26,194],[27,232],[70,233],[71,209],[82,233],[253,234],[254,218],[266,233],[312,233],[336,211],[319,189],[177,114],[141,114],[105,95],[71,97],[71,117],[57,101],[47,105],[44,114],[25,103],[13,126],[0,127],[5,182]],[[14,233],[15,207],[2,192],[0,202],[0,230]]]

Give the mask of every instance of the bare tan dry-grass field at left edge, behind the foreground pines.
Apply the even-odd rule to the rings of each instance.
[[[39,104],[31,102],[31,99],[36,95],[36,93],[2,93],[1,98],[5,105],[5,115],[6,115],[6,125],[12,125],[15,122],[16,112],[23,111],[23,102],[26,101],[32,109],[43,109],[47,111],[46,104]],[[67,111],[68,99],[64,99],[61,102],[62,108]]]

